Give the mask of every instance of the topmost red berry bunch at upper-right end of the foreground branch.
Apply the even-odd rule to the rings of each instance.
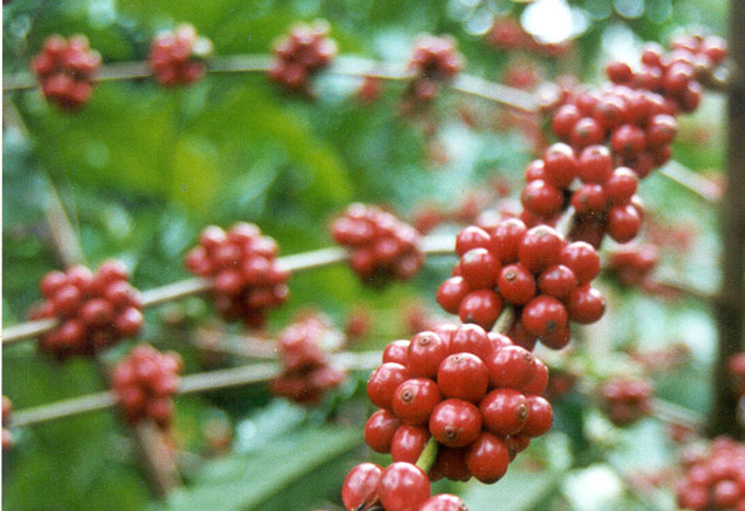
[[[718,36],[687,35],[671,43],[672,51],[649,44],[641,55],[641,66],[633,70],[626,62],[611,62],[608,78],[619,84],[661,94],[673,102],[675,111],[691,112],[701,101],[701,83],[726,57],[726,43]]]

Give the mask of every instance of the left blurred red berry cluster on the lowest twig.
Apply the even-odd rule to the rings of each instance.
[[[181,356],[161,353],[150,345],[136,346],[112,372],[112,386],[130,425],[151,419],[167,428],[173,416],[171,396],[179,390]]]

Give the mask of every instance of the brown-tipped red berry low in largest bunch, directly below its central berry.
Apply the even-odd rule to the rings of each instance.
[[[473,404],[462,399],[445,399],[432,411],[429,432],[443,445],[462,448],[481,432],[481,414]]]

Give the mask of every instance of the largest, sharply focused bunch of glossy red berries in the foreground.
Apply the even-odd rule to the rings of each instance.
[[[494,483],[551,428],[551,405],[540,396],[548,369],[507,336],[446,324],[391,342],[382,362],[367,383],[380,409],[365,440],[394,462],[414,463],[434,438],[433,479]]]

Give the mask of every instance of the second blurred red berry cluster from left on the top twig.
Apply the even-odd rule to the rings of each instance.
[[[148,65],[161,85],[186,85],[204,77],[211,53],[213,43],[183,24],[152,40]]]

